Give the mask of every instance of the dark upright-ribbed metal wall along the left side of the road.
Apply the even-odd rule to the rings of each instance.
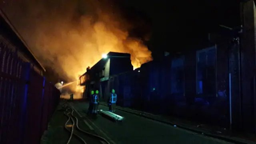
[[[43,78],[31,64],[21,60],[10,48],[0,43],[0,143],[39,144],[46,123],[59,102],[60,91],[50,85],[47,121],[41,122]],[[47,101],[44,100],[44,101]],[[44,127],[41,128],[41,124]],[[33,136],[32,136],[33,135]],[[32,136],[32,137],[31,137]]]

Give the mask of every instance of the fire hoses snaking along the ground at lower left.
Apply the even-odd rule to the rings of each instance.
[[[98,135],[95,135],[95,134],[91,134],[91,133],[89,133],[89,132],[86,132],[86,131],[80,129],[79,126],[78,126],[78,118],[77,118],[76,116],[74,116],[74,114],[73,114],[73,113],[74,113],[74,109],[71,108],[71,107],[69,107],[67,103],[64,103],[64,104],[62,105],[62,107],[63,107],[63,108],[66,108],[66,111],[64,112],[64,114],[68,117],[68,120],[67,120],[67,122],[65,123],[65,129],[70,132],[70,137],[69,137],[68,142],[67,142],[66,144],[69,144],[69,143],[70,143],[70,140],[71,140],[71,138],[72,138],[73,135],[76,136],[77,138],[79,138],[84,144],[86,144],[86,141],[85,141],[83,138],[81,138],[80,136],[78,136],[77,134],[74,133],[74,126],[76,126],[76,128],[77,128],[80,132],[82,132],[82,133],[84,133],[84,134],[87,134],[87,135],[89,135],[89,136],[93,136],[93,137],[95,137],[95,138],[98,138],[98,139],[100,139],[100,140],[106,142],[107,144],[110,144],[105,138],[102,138],[101,136],[98,136]],[[71,112],[68,112],[69,109],[72,110],[72,111],[71,111]],[[71,116],[69,116],[69,114],[71,114]],[[74,119],[73,119],[72,117],[73,117],[73,118],[76,118],[76,122],[74,122]],[[67,123],[68,123],[70,120],[72,121],[72,129],[71,129],[71,130],[69,130],[69,129],[67,128]],[[76,123],[76,124],[75,124],[75,123]]]

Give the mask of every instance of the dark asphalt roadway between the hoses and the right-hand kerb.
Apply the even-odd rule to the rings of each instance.
[[[231,144],[120,110],[116,114],[125,120],[116,123],[101,115],[86,115],[86,102],[74,102],[72,106],[90,129],[112,144]],[[108,110],[108,107],[100,105],[99,109]]]

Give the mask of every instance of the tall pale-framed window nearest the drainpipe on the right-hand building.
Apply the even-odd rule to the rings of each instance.
[[[216,48],[196,53],[196,92],[204,96],[216,95]]]

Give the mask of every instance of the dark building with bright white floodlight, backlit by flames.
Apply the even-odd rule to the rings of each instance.
[[[109,52],[102,55],[92,68],[87,68],[87,72],[79,78],[80,86],[84,86],[83,97],[86,98],[91,89],[100,91],[101,98],[104,98],[110,91],[111,76],[127,71],[132,71],[131,55],[126,53]]]

